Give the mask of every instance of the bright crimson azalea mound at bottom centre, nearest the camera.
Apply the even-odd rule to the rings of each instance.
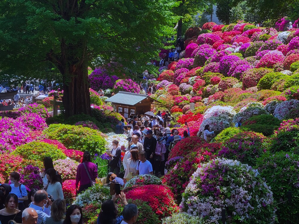
[[[160,219],[179,212],[174,195],[164,185],[145,185],[126,192],[126,198],[147,202]]]

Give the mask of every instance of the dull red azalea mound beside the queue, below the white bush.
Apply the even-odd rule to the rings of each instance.
[[[178,142],[169,154],[169,159],[177,156],[186,156],[188,153],[198,148],[208,148],[210,152],[216,152],[220,149],[218,143],[208,143],[198,136],[190,136]]]

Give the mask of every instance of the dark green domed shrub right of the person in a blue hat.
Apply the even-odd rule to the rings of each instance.
[[[280,120],[269,114],[253,116],[242,123],[241,129],[262,133],[264,136],[273,134],[279,128]]]

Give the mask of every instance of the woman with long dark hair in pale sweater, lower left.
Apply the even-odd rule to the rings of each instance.
[[[55,169],[50,168],[46,171],[46,177],[48,179],[48,185],[45,187],[45,191],[52,195],[54,200],[64,199],[62,192],[62,185]]]

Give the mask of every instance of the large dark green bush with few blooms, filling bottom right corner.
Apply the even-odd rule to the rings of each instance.
[[[299,156],[277,152],[257,158],[257,169],[271,187],[275,201],[288,200],[287,193],[292,191],[292,204],[288,201],[277,204],[276,214],[279,223],[297,223],[299,213]]]

